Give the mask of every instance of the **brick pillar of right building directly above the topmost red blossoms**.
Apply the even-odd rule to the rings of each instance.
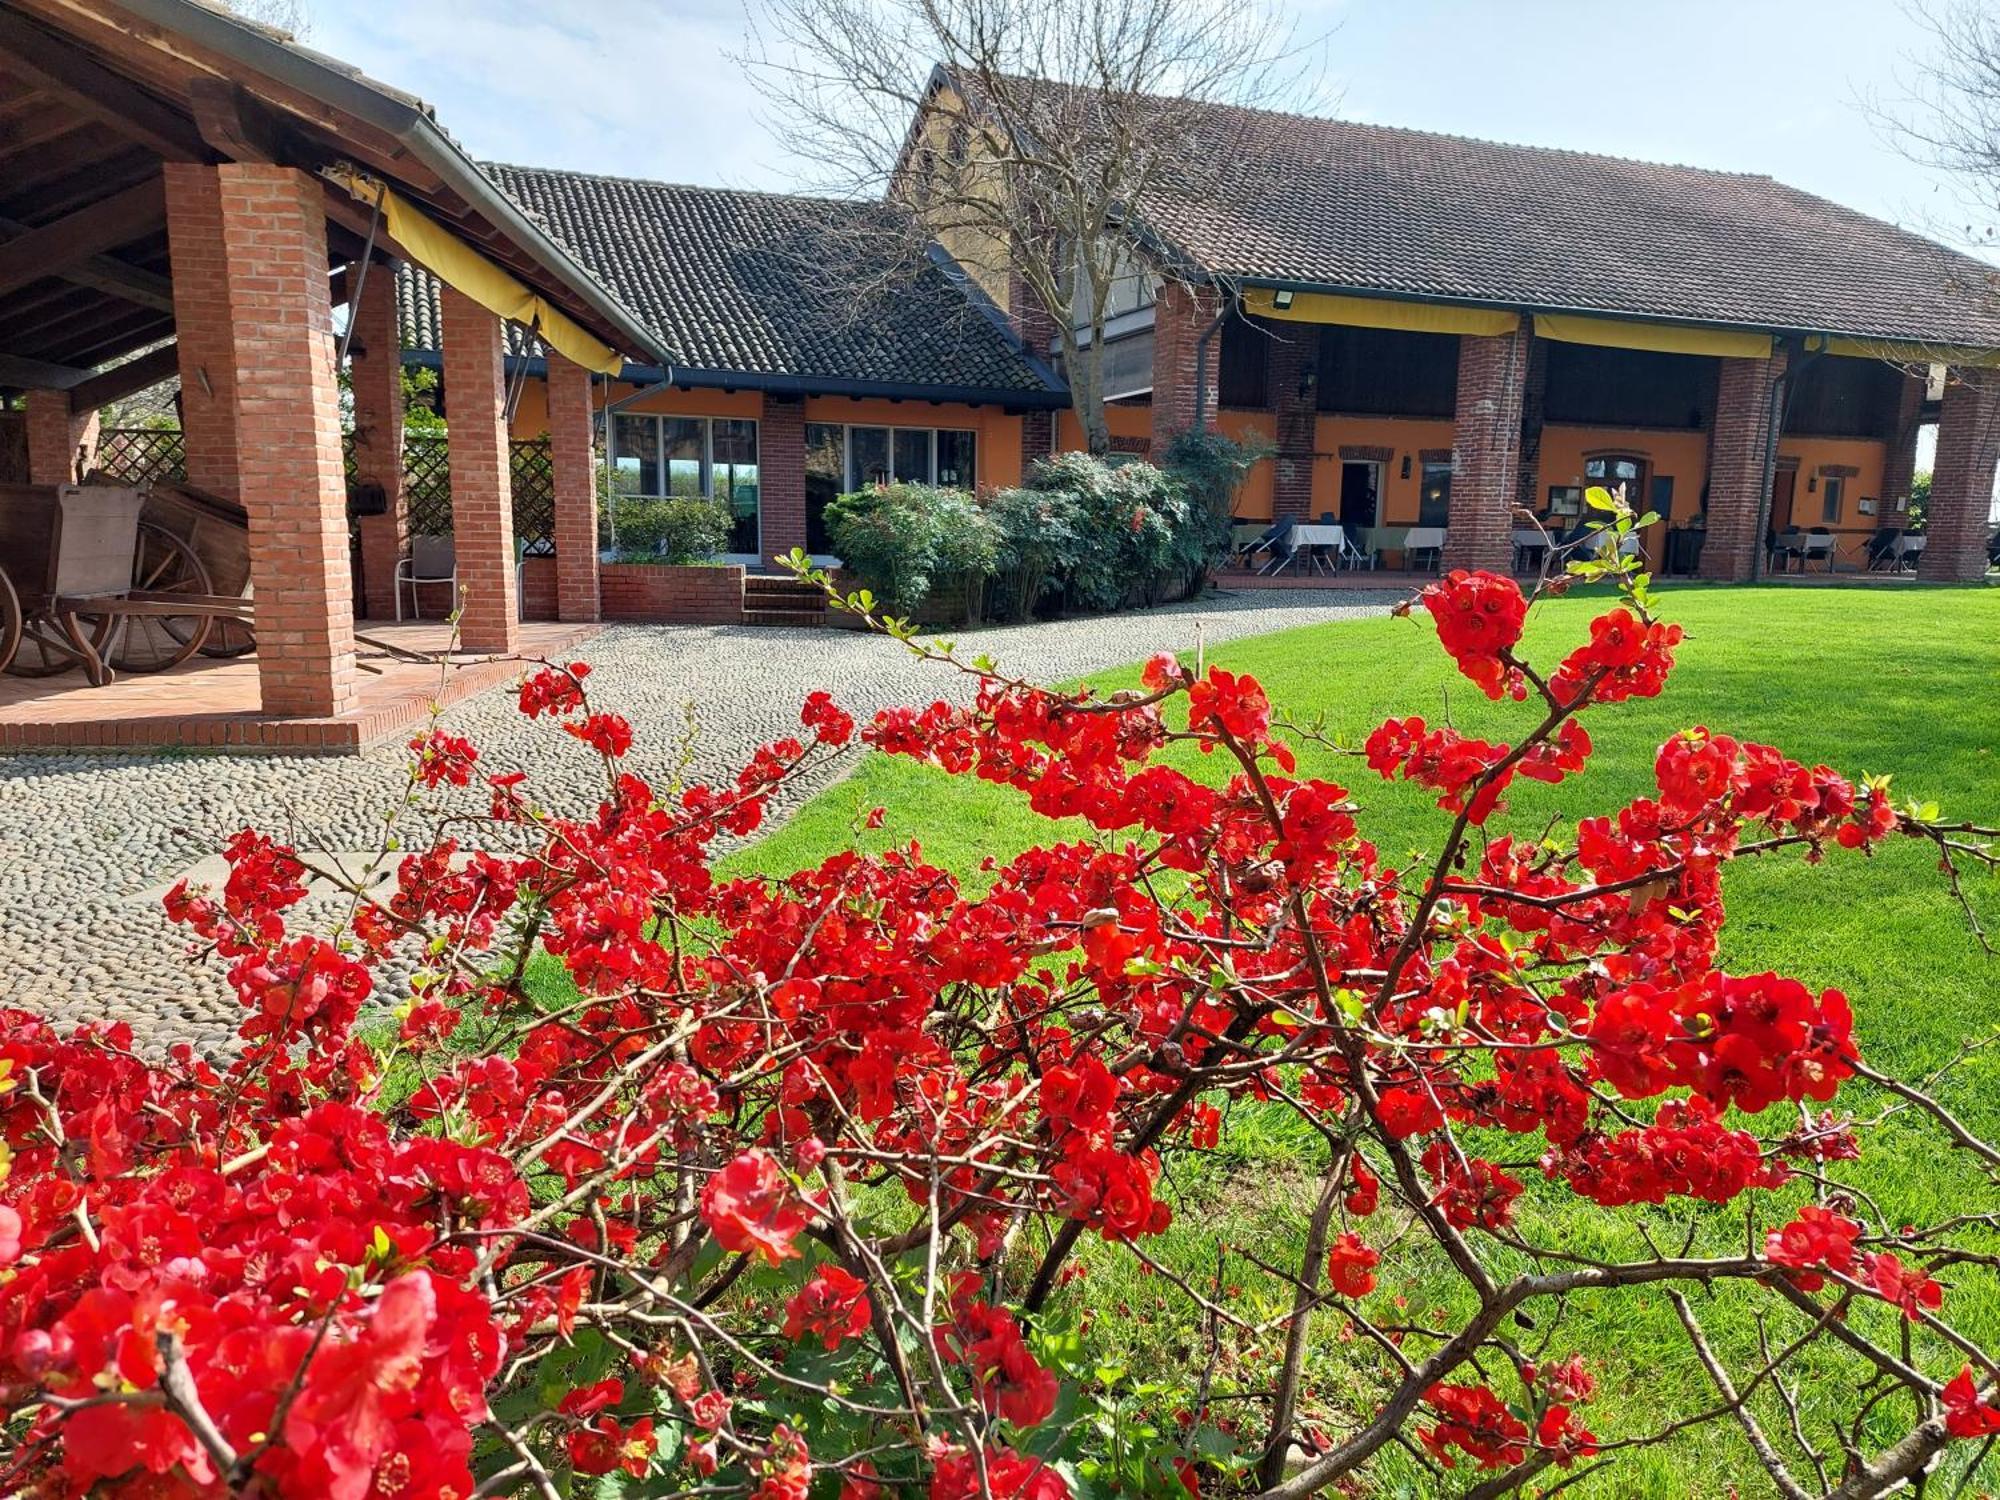
[[[1528,386],[1528,334],[1458,338],[1458,406],[1452,424],[1452,510],[1446,568],[1508,572],[1520,486],[1520,404]]]

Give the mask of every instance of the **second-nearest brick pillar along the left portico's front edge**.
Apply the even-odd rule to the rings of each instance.
[[[466,650],[512,652],[514,484],[508,474],[506,376],[500,318],[446,286],[438,294],[444,338],[444,414],[452,458],[452,544],[458,558],[458,638]]]

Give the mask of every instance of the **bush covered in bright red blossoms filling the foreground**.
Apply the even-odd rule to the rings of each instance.
[[[1662,690],[1678,632],[1628,586],[1544,668],[1508,580],[1452,574],[1422,608],[1522,704],[1510,744],[1368,738],[1360,778],[1436,792],[1428,858],[1394,862],[1362,792],[1298,772],[1304,732],[1254,680],[1172,656],[1112,698],[962,664],[970,706],[860,730],[812,694],[732,784],[672,792],[628,768],[588,668],[544,664],[520,706],[602,756],[598,806],[544,808],[432,730],[404,812],[478,788],[486,826],[386,842],[394,894],[238,834],[220,890],[166,898],[242,1000],[230,1058],[0,1012],[8,1490],[1294,1500],[1406,1450],[1502,1494],[1728,1422],[1782,1492],[1870,1496],[2000,1432],[1994,1350],[1952,1322],[1996,1204],[1884,1220],[1842,1186],[1866,1128],[1838,1092],[1870,1078],[1900,1128],[1988,1170],[2000,1150],[1872,1072],[1842,994],[1716,966],[1732,860],[1918,838],[1956,884],[1988,830],[1690,730],[1654,796],[1500,832],[1514,778],[1582,776],[1584,718]],[[856,740],[1094,836],[984,896],[914,848],[716,878],[718,836]],[[352,892],[330,934],[290,920],[308,878]],[[422,968],[380,1028],[390,950]],[[572,994],[526,982],[536,952]],[[1270,1246],[1218,1244],[1214,1282],[1156,1256],[1176,1170],[1258,1112],[1316,1142],[1262,1322],[1226,1286]],[[1730,1212],[1620,1256],[1524,1226],[1534,1180],[1606,1228]],[[1436,1322],[1384,1286],[1414,1254],[1462,1288]],[[1118,1390],[1092,1360],[1078,1308],[1114,1256],[1208,1330],[1180,1376]],[[1734,1370],[1690,1296],[1724,1284],[1766,1334]],[[1596,1432],[1566,1308],[1662,1292],[1716,1400]],[[1352,1400],[1304,1380],[1336,1338]],[[1856,1410],[1802,1410],[1806,1358]]]

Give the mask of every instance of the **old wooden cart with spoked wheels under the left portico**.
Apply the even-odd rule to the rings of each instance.
[[[0,484],[0,668],[160,672],[198,652],[218,620],[248,626],[250,600],[216,594],[194,548],[144,522],[142,490]]]

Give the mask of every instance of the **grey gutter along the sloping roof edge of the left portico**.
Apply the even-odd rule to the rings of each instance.
[[[246,70],[274,78],[334,110],[368,122],[386,136],[394,136],[470,208],[528,250],[606,326],[616,328],[632,352],[650,354],[662,368],[668,368],[668,380],[672,380],[670,366],[676,356],[660,342],[660,336],[610,296],[548,230],[528,218],[520,204],[480,172],[472,158],[422,108],[316,62],[298,48],[264,36],[254,26],[220,10],[194,4],[194,0],[116,0],[116,4],[162,30],[178,32],[198,46],[240,62]]]

